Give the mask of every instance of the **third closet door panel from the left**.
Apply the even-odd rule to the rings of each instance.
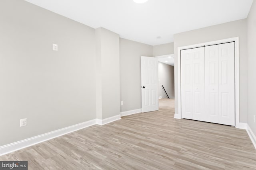
[[[205,121],[219,123],[219,45],[205,47]]]

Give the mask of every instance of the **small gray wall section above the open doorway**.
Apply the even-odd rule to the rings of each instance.
[[[168,55],[174,53],[174,43],[153,46],[153,56]]]

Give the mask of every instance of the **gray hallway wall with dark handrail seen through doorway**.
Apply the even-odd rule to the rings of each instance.
[[[158,96],[167,98],[164,90],[162,89],[163,85],[169,98],[174,99],[174,66],[158,62],[158,79]]]

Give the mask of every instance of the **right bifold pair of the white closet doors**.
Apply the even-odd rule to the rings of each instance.
[[[235,125],[234,42],[205,47],[206,121]]]

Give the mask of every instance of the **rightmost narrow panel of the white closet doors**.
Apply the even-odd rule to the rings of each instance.
[[[219,123],[235,125],[234,42],[219,45]]]

